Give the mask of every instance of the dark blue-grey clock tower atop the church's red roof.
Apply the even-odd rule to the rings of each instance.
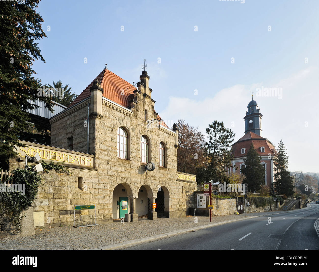
[[[253,96],[253,95],[252,95]],[[249,131],[256,133],[257,135],[261,136],[261,117],[263,116],[259,110],[257,109],[258,105],[253,98],[249,102],[247,108],[248,111],[246,112],[245,119],[245,134]]]

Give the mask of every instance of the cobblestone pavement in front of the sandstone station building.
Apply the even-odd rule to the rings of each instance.
[[[249,213],[247,217],[284,213],[284,211]],[[93,227],[73,228],[71,226],[37,228],[35,235],[0,239],[0,249],[92,249],[109,246],[138,238],[163,234],[176,230],[244,219],[241,215],[213,216],[211,222],[207,216],[179,218],[157,218],[156,220],[138,219],[137,222],[114,221]]]

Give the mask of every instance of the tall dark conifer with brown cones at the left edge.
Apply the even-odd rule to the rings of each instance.
[[[38,97],[41,80],[31,69],[35,59],[44,61],[38,43],[46,37],[43,19],[36,12],[40,0],[1,1],[0,11],[0,168],[6,169],[16,155],[18,136],[28,130],[29,118],[24,113],[35,106],[27,100],[40,99],[52,110],[50,97]],[[24,111],[24,112],[22,112]]]

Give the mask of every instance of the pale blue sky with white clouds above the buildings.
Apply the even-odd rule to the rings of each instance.
[[[262,136],[276,146],[283,139],[290,170],[319,172],[313,155],[319,151],[318,11],[315,0],[42,0],[38,12],[48,38],[39,46],[46,63],[33,69],[43,83],[61,79],[79,94],[105,63],[123,79],[139,81],[145,57],[155,110],[164,120],[185,119],[204,131],[217,119],[234,130],[235,140],[243,136],[250,91],[283,88],[282,99],[255,98]]]

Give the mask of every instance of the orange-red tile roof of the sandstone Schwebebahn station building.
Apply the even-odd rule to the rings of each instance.
[[[130,101],[133,99],[133,91],[136,90],[132,84],[107,69],[103,69],[96,79],[100,81],[101,87],[103,88],[103,97],[125,108],[130,108]],[[93,79],[93,81],[85,88],[85,90],[78,95],[78,97],[68,106],[68,108],[85,100],[91,95],[90,87],[93,85],[94,80],[95,79]],[[159,116],[157,117],[160,119]],[[168,128],[163,121],[160,122],[160,125]]]

